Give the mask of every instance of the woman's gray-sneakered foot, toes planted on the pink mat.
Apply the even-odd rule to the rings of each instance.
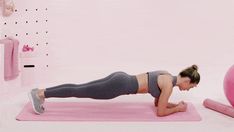
[[[29,99],[32,103],[33,110],[36,114],[42,114],[45,109],[43,107],[44,99],[39,96],[39,89],[35,88],[29,92]]]

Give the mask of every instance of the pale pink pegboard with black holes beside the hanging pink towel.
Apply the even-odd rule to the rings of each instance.
[[[0,33],[1,38],[11,36],[19,40],[22,83],[28,85],[32,83],[30,80],[33,80],[37,72],[46,74],[45,69],[49,65],[49,7],[43,1],[24,0],[22,2],[21,0],[14,0],[14,4],[14,13],[0,20]],[[30,53],[21,53],[25,44],[34,47],[35,50]],[[24,68],[24,65],[34,65],[36,67]],[[39,68],[37,67],[42,70],[38,71]],[[25,82],[26,78],[29,78],[27,82]]]

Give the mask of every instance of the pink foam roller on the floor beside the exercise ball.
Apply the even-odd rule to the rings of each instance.
[[[205,99],[203,105],[209,109],[218,111],[222,114],[234,117],[234,108],[228,105],[221,104],[211,99]]]

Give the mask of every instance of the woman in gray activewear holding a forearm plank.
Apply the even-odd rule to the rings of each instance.
[[[172,76],[166,71],[153,71],[138,75],[114,72],[103,79],[85,84],[63,84],[46,89],[32,89],[29,97],[35,113],[42,114],[44,100],[51,97],[112,99],[126,94],[150,93],[155,98],[157,115],[167,116],[186,111],[187,105],[183,101],[173,104],[168,100],[174,86],[178,86],[181,91],[197,86],[200,81],[197,70],[198,67],[192,65],[182,70],[177,76]]]

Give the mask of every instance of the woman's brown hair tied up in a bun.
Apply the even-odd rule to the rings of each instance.
[[[192,65],[179,73],[181,77],[189,77],[190,83],[198,84],[200,82],[200,74],[198,73],[198,66]]]

